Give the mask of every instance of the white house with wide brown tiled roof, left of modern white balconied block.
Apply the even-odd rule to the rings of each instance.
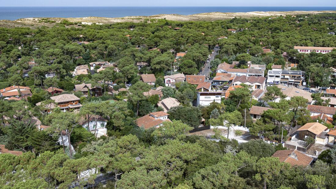
[[[252,88],[252,90],[257,90],[257,89],[262,89],[265,90],[265,82],[266,82],[266,78],[264,77],[254,77],[254,76],[250,76],[250,77],[246,77],[246,76],[237,76],[234,80],[233,80],[233,85],[240,85],[240,84],[245,84],[249,87]]]

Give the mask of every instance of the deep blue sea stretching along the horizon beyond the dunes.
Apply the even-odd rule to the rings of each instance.
[[[336,7],[0,7],[0,20],[30,17],[124,17],[204,12],[336,10]]]

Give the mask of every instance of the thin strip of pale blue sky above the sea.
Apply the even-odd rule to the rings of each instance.
[[[321,0],[0,0],[0,6],[331,6]]]

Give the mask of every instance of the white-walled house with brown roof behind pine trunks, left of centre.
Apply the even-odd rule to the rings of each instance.
[[[107,134],[107,125],[108,120],[103,118],[100,115],[92,115],[89,120],[87,117],[81,117],[79,121],[79,125],[85,128],[87,131],[91,132],[92,134],[96,133],[97,138],[101,136],[106,136]],[[97,126],[97,130],[96,130]]]

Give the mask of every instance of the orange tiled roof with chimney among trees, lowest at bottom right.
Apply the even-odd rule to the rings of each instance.
[[[280,162],[289,163],[291,166],[309,166],[313,161],[313,158],[295,149],[278,150],[272,157],[278,157]]]

